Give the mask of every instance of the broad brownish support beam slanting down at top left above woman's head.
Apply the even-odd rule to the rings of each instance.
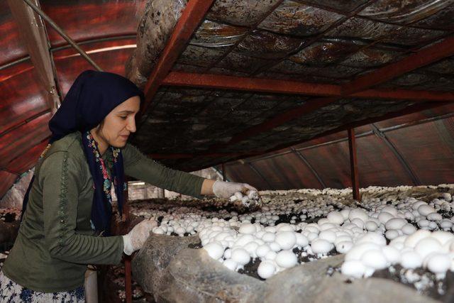
[[[39,5],[38,0],[33,0]],[[26,45],[31,61],[38,73],[45,92],[50,111],[55,114],[61,103],[60,87],[57,82],[57,72],[50,53],[50,43],[45,25],[40,16],[33,12],[23,1],[8,0],[11,13],[20,29],[21,38]]]

